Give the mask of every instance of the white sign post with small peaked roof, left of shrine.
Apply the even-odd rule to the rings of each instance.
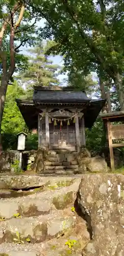
[[[26,133],[18,133],[17,134],[18,136],[18,146],[17,146],[17,150],[19,151],[19,170],[21,169],[21,163],[22,163],[22,151],[24,150],[25,148],[25,143],[26,143],[26,136],[27,134]]]

